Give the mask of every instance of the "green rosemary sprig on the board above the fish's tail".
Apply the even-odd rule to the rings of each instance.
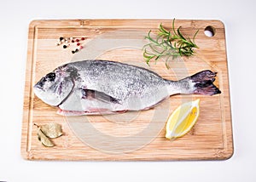
[[[177,28],[177,31],[175,30],[174,21],[175,19],[172,21],[172,32],[167,31],[162,24],[159,26],[157,37],[151,37],[151,31],[148,31],[145,38],[148,39],[149,43],[143,47],[143,57],[148,65],[151,60],[157,61],[162,58],[166,60],[166,67],[169,69],[168,61],[171,58],[189,57],[195,53],[194,48],[198,48],[195,44],[195,36],[199,30],[195,32],[191,40],[189,37],[183,36],[180,31],[181,26]]]

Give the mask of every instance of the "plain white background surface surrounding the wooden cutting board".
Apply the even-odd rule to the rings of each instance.
[[[255,8],[243,1],[0,2],[0,181],[256,181]],[[20,156],[27,30],[36,19],[206,19],[226,28],[235,153],[207,162],[30,162]]]

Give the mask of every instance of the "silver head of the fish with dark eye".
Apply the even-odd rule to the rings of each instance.
[[[49,72],[33,87],[34,93],[48,105],[60,105],[74,88],[73,74],[60,68]]]

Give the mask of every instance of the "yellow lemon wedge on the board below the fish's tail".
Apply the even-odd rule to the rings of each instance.
[[[166,123],[166,139],[176,139],[187,134],[199,117],[200,100],[179,105]]]

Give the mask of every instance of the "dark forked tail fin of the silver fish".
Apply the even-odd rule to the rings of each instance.
[[[213,84],[217,72],[212,72],[210,70],[201,71],[195,73],[189,77],[192,82],[192,94],[202,94],[202,95],[213,95],[221,94],[221,91]]]

